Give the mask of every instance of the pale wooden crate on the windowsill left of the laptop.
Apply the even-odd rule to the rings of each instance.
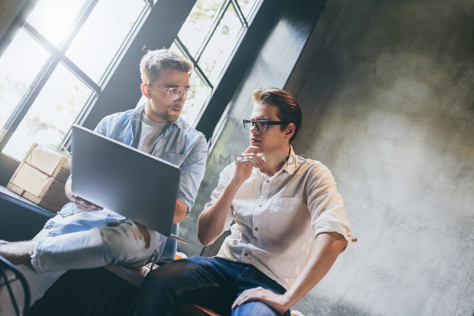
[[[7,188],[50,211],[70,202],[64,192],[71,159],[33,144],[11,177]]]

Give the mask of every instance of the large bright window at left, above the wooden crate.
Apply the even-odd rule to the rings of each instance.
[[[62,143],[100,93],[144,0],[38,0],[0,57],[0,150]]]

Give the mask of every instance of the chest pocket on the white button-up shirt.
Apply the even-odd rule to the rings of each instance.
[[[306,204],[302,198],[273,198],[270,200],[268,228],[275,233],[291,234],[301,228]]]

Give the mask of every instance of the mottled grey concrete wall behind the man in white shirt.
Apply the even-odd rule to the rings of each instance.
[[[474,309],[472,0],[329,0],[286,87],[359,241],[305,315]],[[471,269],[471,272],[470,272]],[[470,274],[469,274],[470,272]]]

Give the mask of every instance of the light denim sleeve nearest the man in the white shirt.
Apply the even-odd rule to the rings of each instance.
[[[186,205],[186,215],[191,211],[204,178],[207,162],[208,145],[204,135],[191,149],[181,165],[181,179],[177,199]]]

